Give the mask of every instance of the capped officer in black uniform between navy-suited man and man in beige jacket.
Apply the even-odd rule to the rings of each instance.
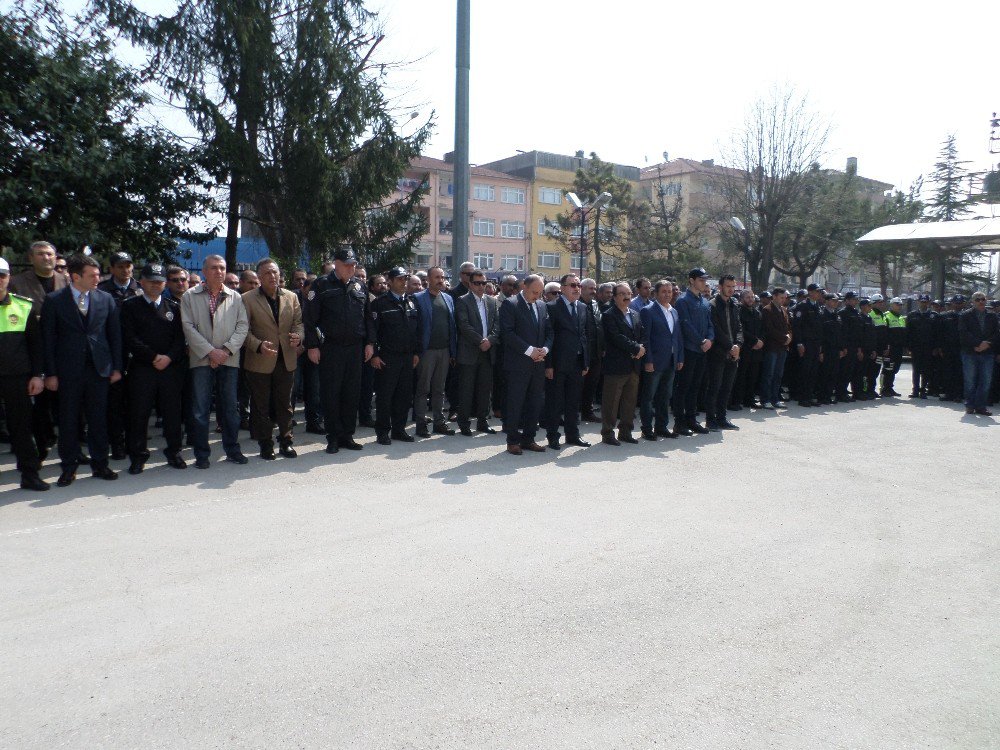
[[[163,266],[153,263],[142,269],[142,294],[122,303],[122,339],[130,356],[128,376],[128,455],[129,474],[141,474],[149,451],[146,429],[153,407],[163,420],[164,453],[175,469],[187,468],[180,457],[182,399],[187,374],[181,306],[163,295],[167,277]]]

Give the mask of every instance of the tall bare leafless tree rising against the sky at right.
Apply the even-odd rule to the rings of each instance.
[[[717,189],[731,215],[746,226],[748,237],[736,241],[744,246],[749,240],[747,262],[755,289],[767,286],[778,227],[804,189],[811,165],[822,160],[829,132],[807,97],[794,89],[773,89],[751,106],[746,126],[724,149],[734,169],[719,175]]]

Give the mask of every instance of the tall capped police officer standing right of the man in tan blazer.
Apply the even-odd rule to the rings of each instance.
[[[333,271],[316,279],[306,294],[306,350],[319,366],[327,453],[362,447],[354,440],[361,365],[372,358],[375,335],[368,290],[354,276],[357,265],[353,250],[337,250]]]

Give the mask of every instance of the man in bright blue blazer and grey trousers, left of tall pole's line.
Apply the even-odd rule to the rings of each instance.
[[[455,434],[448,427],[444,413],[444,389],[448,368],[458,349],[458,329],[455,325],[455,301],[444,287],[444,269],[434,266],[427,269],[427,288],[414,297],[420,310],[424,352],[417,365],[417,390],[413,403],[417,437],[431,436],[425,421],[428,394],[434,415],[434,432],[439,435]],[[457,408],[458,404],[451,406]]]

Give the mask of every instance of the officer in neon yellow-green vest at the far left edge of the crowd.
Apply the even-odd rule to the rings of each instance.
[[[11,447],[21,472],[21,489],[44,491],[42,462],[32,430],[31,397],[44,389],[42,332],[32,301],[7,291],[10,265],[0,258],[0,400],[7,411]]]

